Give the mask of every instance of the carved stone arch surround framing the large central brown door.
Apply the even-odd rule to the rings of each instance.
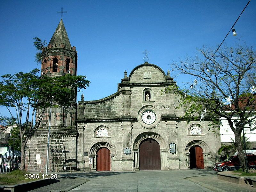
[[[133,142],[133,169],[134,170],[139,170],[140,169],[140,159],[139,159],[139,148],[140,144],[144,140],[152,139],[155,140],[159,146],[160,146],[160,164],[161,164],[161,169],[163,167],[167,167],[167,154],[168,154],[168,146],[166,144],[166,141],[164,138],[159,135],[156,132],[143,132],[140,133],[136,139]]]

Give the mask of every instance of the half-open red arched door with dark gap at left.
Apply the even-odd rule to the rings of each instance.
[[[204,169],[203,149],[199,146],[193,146],[189,149],[190,169]]]

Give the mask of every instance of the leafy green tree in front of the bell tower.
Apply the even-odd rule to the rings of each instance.
[[[10,114],[10,117],[1,116],[1,119],[19,129],[22,171],[25,169],[26,144],[38,129],[46,108],[51,105],[68,106],[75,100],[76,88],[85,89],[90,83],[86,76],[37,76],[39,71],[34,69],[29,73],[7,74],[2,76],[0,82],[0,106],[5,106]],[[35,121],[37,109],[42,113]]]

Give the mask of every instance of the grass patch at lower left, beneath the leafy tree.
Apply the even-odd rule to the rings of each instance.
[[[38,179],[25,179],[26,177],[25,174],[30,174],[30,173],[26,171],[15,170],[10,173],[0,174],[0,185],[19,184],[19,183],[26,183],[29,181],[38,180]]]

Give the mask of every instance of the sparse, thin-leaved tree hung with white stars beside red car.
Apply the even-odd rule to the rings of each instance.
[[[205,47],[198,50],[195,58],[187,58],[172,65],[173,72],[192,76],[186,94],[181,94],[180,104],[186,108],[185,117],[190,121],[198,118],[206,109],[212,118],[211,128],[219,127],[220,117],[227,119],[235,134],[235,148],[245,170],[245,160],[241,133],[248,120],[255,119],[256,55],[252,47],[237,45],[215,50]],[[230,98],[230,102],[227,102]],[[203,114],[204,115],[204,114]],[[233,120],[238,120],[238,126]]]

